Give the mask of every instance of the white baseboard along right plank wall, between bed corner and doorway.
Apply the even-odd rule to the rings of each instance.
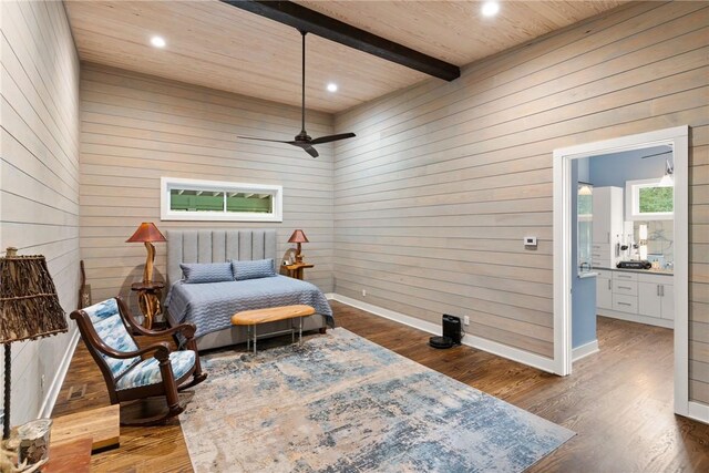
[[[415,317],[407,316],[401,312],[397,312],[394,310],[384,309],[383,307],[374,306],[369,302],[363,302],[358,299],[352,299],[351,297],[342,296],[337,292],[330,292],[326,295],[328,299],[337,300],[338,302],[347,304],[348,306],[356,307],[361,310],[366,310],[370,313],[373,313],[379,317],[383,317],[386,319],[394,320],[399,323],[403,323],[409,327],[413,327],[419,330],[423,330],[425,332],[432,335],[441,333],[441,326],[438,323],[429,322],[427,320],[417,319]],[[337,322],[337,321],[336,321]],[[545,358],[535,353],[531,353],[528,351],[520,350],[517,348],[507,347],[506,345],[499,343],[496,341],[487,340],[484,338],[466,335],[463,338],[463,345],[469,347],[487,351],[490,353],[496,354],[502,358],[506,358],[508,360],[517,361],[523,364],[527,364],[533,368],[537,368],[542,371],[546,371],[549,373],[555,372],[554,360],[551,358]]]

